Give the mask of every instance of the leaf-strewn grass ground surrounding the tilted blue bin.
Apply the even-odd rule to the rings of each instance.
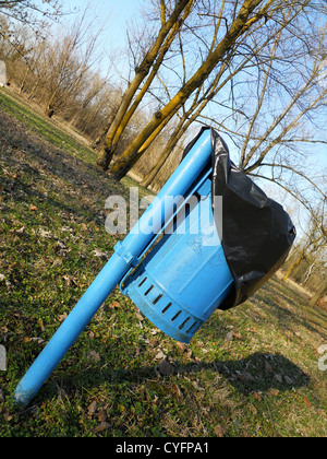
[[[106,198],[135,186],[99,173],[92,155],[0,92],[0,436],[326,436],[327,315],[276,278],[217,311],[189,346],[117,289],[33,403],[15,409],[16,384],[112,254]]]

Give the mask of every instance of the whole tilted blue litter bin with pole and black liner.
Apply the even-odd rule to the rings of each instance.
[[[223,225],[211,189],[223,199]],[[178,209],[168,203],[167,221],[162,203],[169,198],[177,199]],[[225,228],[223,249],[219,226]],[[117,284],[156,327],[189,343],[217,308],[244,303],[276,272],[295,235],[282,207],[231,163],[217,132],[203,128],[156,202],[117,244],[22,378],[15,402],[22,408],[31,402]]]

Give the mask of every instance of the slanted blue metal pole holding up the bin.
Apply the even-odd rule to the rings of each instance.
[[[205,131],[124,242],[116,246],[113,256],[22,378],[14,393],[19,405],[24,408],[31,402],[113,289],[137,264],[138,257],[156,234],[156,228],[152,234],[142,233],[142,228],[149,221],[157,221],[158,226],[164,223],[165,198],[184,196],[207,165],[210,154],[210,132]]]

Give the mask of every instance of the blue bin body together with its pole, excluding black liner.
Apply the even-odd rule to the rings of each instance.
[[[117,284],[158,328],[186,343],[227,297],[233,279],[211,211],[211,154],[210,132],[203,132],[21,379],[14,395],[20,407],[36,396]],[[161,204],[179,196],[189,204],[174,211],[168,203],[166,222]],[[202,198],[190,207],[194,196]],[[150,223],[153,229],[142,232]]]

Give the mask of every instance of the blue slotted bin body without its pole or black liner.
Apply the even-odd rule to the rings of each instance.
[[[211,180],[122,283],[123,294],[169,337],[189,343],[233,287],[214,221]]]

